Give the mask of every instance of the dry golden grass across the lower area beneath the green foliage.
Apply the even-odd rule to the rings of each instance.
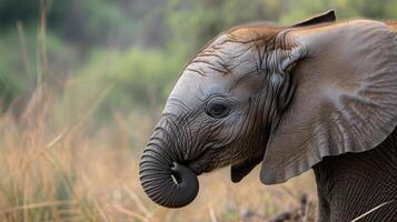
[[[266,186],[258,169],[238,184],[230,182],[229,169],[205,174],[189,206],[158,206],[140,188],[141,149],[136,149],[145,145],[151,117],[138,114],[139,121],[126,123],[115,114],[117,127],[97,134],[86,127],[92,121],[87,114],[54,127],[52,99],[44,94],[38,90],[18,121],[10,113],[0,117],[1,221],[264,221],[294,209],[306,212],[300,220],[314,220],[311,174]],[[305,193],[310,204],[302,206]]]

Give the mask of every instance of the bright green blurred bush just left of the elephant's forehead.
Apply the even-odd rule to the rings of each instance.
[[[157,107],[167,98],[182,64],[177,54],[131,48],[125,52],[98,51],[76,81],[93,94],[115,84],[105,107],[127,110]],[[81,89],[81,90],[85,90]],[[83,94],[83,93],[82,93]]]

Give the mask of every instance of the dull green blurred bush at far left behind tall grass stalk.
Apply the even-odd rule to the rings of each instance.
[[[68,67],[76,64],[72,50],[58,36],[48,32],[44,36],[46,46],[42,46],[39,33],[32,27],[10,29],[0,34],[0,101],[1,109],[6,110],[11,103],[23,105],[36,89],[39,74],[46,69],[49,83],[58,84],[66,78]],[[48,64],[41,53],[46,51]],[[54,73],[57,72],[57,77]],[[51,77],[52,75],[52,77]]]

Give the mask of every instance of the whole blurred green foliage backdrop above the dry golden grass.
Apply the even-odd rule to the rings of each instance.
[[[68,101],[56,108],[61,113],[83,111],[87,101],[109,85],[113,87],[101,99],[99,120],[109,120],[115,110],[158,110],[189,57],[221,31],[254,21],[290,24],[329,9],[341,19],[394,19],[397,1],[3,0],[2,108],[27,100],[43,74],[59,101]],[[46,38],[40,11],[48,12]],[[22,24],[19,31],[17,21]]]

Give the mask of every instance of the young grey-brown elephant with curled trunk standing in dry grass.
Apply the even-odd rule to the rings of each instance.
[[[185,67],[143,150],[148,196],[181,208],[230,165],[264,184],[314,170],[319,221],[397,221],[397,23],[337,21],[220,33]]]

